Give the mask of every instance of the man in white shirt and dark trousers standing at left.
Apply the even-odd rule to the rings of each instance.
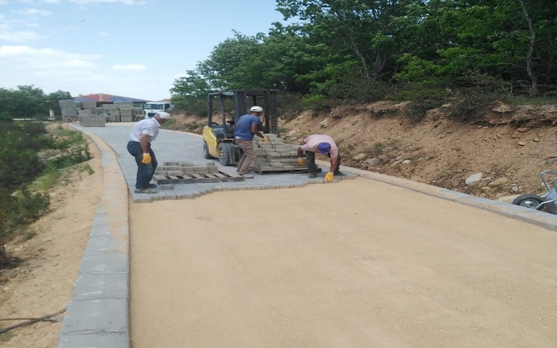
[[[155,193],[156,184],[149,184],[157,169],[157,157],[151,148],[152,141],[157,139],[159,128],[171,118],[170,113],[155,113],[152,118],[137,122],[130,131],[130,141],[127,142],[127,152],[135,157],[137,176],[135,182],[136,193]]]

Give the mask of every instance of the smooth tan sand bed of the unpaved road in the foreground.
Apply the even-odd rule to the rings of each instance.
[[[134,348],[557,342],[555,232],[389,184],[133,204],[130,231]]]

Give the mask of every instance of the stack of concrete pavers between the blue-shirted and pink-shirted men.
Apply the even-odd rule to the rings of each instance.
[[[276,134],[264,134],[269,139],[267,145],[262,139],[256,136],[253,147],[256,150],[256,161],[253,169],[258,173],[272,172],[296,172],[306,171],[306,164],[298,164],[299,145],[286,143],[284,139]]]

